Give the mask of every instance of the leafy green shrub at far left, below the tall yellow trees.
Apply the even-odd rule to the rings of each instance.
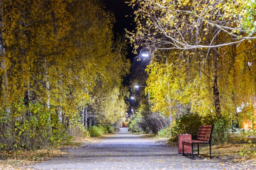
[[[4,150],[47,148],[53,137],[49,111],[36,102],[16,102],[0,115],[0,144]],[[8,115],[9,114],[9,115]]]

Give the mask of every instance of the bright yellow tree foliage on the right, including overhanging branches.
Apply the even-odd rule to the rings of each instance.
[[[135,53],[143,49],[151,56],[147,90],[153,111],[189,109],[245,119],[256,110],[254,0],[131,0],[130,5],[137,27],[126,36]],[[243,103],[250,106],[236,113]]]

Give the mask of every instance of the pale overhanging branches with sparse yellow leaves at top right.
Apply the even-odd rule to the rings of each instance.
[[[254,0],[132,0],[130,5],[137,28],[128,38],[135,49],[213,48],[256,39]],[[216,43],[220,33],[230,38]]]

